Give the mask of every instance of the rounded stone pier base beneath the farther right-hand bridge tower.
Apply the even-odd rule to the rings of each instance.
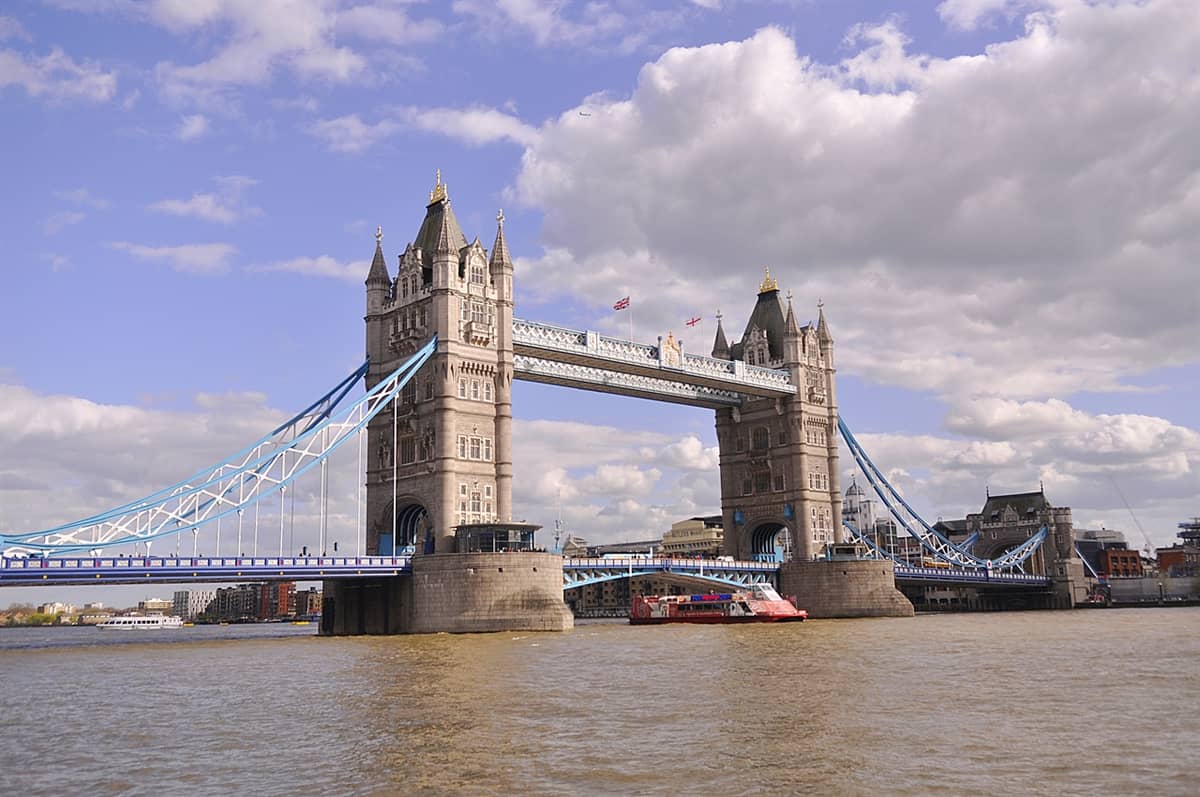
[[[874,559],[787,562],[780,565],[779,592],[796,595],[812,618],[912,617],[895,587],[892,562]]]

